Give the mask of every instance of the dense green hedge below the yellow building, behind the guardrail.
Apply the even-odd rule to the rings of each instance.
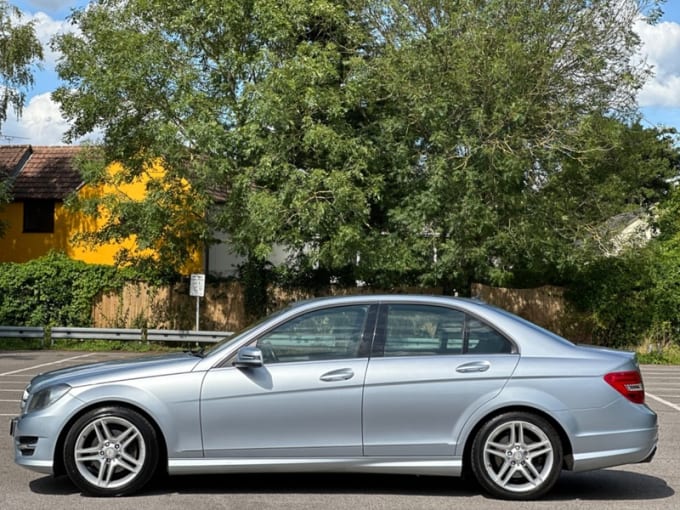
[[[0,324],[7,326],[92,325],[92,302],[120,288],[125,275],[52,252],[25,263],[0,264]]]

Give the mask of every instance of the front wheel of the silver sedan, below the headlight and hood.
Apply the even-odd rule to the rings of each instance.
[[[68,477],[93,496],[127,496],[152,478],[158,439],[149,421],[126,407],[103,407],[81,416],[64,441]]]

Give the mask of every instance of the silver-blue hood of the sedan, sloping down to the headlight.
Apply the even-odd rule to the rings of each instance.
[[[199,361],[200,358],[190,353],[173,353],[76,365],[39,374],[31,380],[29,387],[30,391],[35,392],[55,384],[68,384],[77,387],[141,377],[178,374],[190,372]]]

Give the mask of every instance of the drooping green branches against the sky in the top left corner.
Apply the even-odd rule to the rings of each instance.
[[[21,114],[33,68],[43,56],[33,24],[20,21],[19,10],[0,0],[0,128],[10,107]]]

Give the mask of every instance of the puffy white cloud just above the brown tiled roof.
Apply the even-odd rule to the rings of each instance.
[[[6,143],[62,145],[62,137],[68,128],[68,123],[50,94],[40,94],[31,98],[19,121],[14,112],[8,112],[2,133],[8,138]]]

